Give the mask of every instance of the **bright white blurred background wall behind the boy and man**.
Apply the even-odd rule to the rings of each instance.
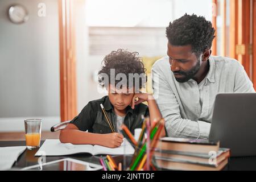
[[[104,46],[97,44],[97,39],[94,39],[93,36],[91,36],[93,32],[92,30],[94,30],[96,27],[98,27],[96,28],[96,32],[100,29],[106,30],[113,28],[114,30],[116,30],[118,25],[119,27],[122,27],[120,28],[120,30],[125,30],[125,26],[133,27],[132,25],[135,24],[135,27],[127,28],[127,35],[129,35],[133,31],[128,32],[128,30],[136,30],[137,28],[140,29],[139,27],[143,29],[142,27],[145,26],[163,28],[164,30],[165,27],[168,26],[167,22],[177,19],[185,13],[195,13],[197,15],[205,16],[205,18],[207,18],[208,20],[212,19],[212,0],[170,0],[170,2],[164,1],[164,5],[166,5],[167,2],[167,5],[170,5],[167,8],[164,8],[164,10],[168,9],[169,12],[164,11],[164,13],[163,7],[159,5],[160,1],[151,1],[151,3],[153,4],[157,2],[156,4],[158,6],[148,6],[148,3],[143,3],[145,1],[112,0],[106,2],[104,0],[77,0],[76,2],[79,2],[76,5],[78,112],[80,112],[81,109],[86,104],[88,104],[90,100],[96,100],[105,95],[104,93],[99,93],[97,90],[98,83],[96,80],[96,73],[101,68],[101,61],[103,60],[104,56],[107,53],[110,53],[110,48],[115,50],[117,49],[115,46],[119,45],[120,48],[129,48],[129,51],[139,51],[141,56],[166,55],[167,39],[164,31],[162,32],[162,36],[152,31],[154,32],[154,34],[152,34],[151,39],[141,41],[141,44],[139,44],[140,47],[138,47],[138,43],[131,43],[134,39],[126,41],[129,38],[121,39],[116,36],[115,39],[109,39],[108,42],[108,37],[100,36],[100,34],[98,34],[98,38],[100,40],[102,39],[101,41],[106,45],[104,49]],[[130,11],[130,9],[128,8],[132,6],[131,3],[134,3],[133,11]],[[107,5],[108,7],[106,7]],[[203,9],[202,6],[204,7]],[[154,9],[150,9],[151,7],[153,7]],[[120,11],[122,11],[122,14],[119,14]],[[144,11],[146,13],[150,12],[149,16],[144,16]],[[133,16],[131,17],[131,15]],[[138,17],[138,19],[136,19],[136,17]],[[133,21],[130,19],[133,19]],[[150,31],[151,29],[154,28],[148,28],[148,31]],[[108,32],[106,32],[106,34],[108,34]],[[120,31],[118,34],[123,34],[123,31]],[[118,34],[113,34],[112,37]],[[142,40],[143,37],[144,34],[142,34],[142,36],[138,38],[137,42]],[[157,43],[160,45],[159,50],[154,49],[153,51],[148,53],[149,51],[147,51],[147,49],[141,49],[141,47],[154,47],[154,45],[152,45],[154,44],[154,41],[152,42],[152,40],[158,40]],[[95,44],[97,45],[95,46]],[[98,53],[100,51],[97,51],[97,54],[92,55],[91,53],[94,52],[92,48],[101,48],[100,51],[102,52],[102,54],[100,55],[100,53]],[[152,53],[153,55],[151,55]]]

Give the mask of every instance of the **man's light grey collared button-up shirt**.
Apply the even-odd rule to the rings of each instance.
[[[253,84],[235,59],[209,57],[209,71],[199,84],[193,79],[177,82],[168,56],[152,67],[154,97],[170,137],[208,139],[215,97],[218,93],[253,93]]]

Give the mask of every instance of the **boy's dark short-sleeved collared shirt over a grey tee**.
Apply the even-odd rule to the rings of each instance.
[[[115,132],[118,132],[114,107],[109,101],[108,96],[102,97],[99,100],[90,101],[70,123],[76,125],[81,131],[88,130],[90,133],[100,134],[112,133],[105,115],[102,113],[100,104],[104,106],[106,114],[113,123]],[[141,128],[142,126],[141,115],[145,117],[149,115],[147,105],[141,103],[135,105],[134,109],[130,106],[126,107],[126,115],[123,123],[133,134],[134,129]]]

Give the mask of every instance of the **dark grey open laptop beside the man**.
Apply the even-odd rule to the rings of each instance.
[[[231,156],[256,156],[256,93],[218,94],[209,140],[219,140]]]

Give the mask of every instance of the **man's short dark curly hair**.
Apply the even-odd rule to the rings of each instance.
[[[170,22],[166,28],[166,36],[174,46],[191,45],[197,55],[212,47],[214,39],[212,23],[204,16],[185,14],[179,19]]]

